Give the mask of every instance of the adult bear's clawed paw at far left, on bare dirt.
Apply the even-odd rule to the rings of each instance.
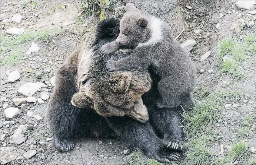
[[[60,151],[69,151],[73,150],[74,142],[72,140],[60,140],[59,137],[53,137],[54,146]]]

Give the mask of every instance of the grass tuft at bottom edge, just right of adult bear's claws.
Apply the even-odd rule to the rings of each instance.
[[[215,158],[214,152],[210,151],[202,138],[191,140],[187,144],[188,150],[184,164],[212,164]]]

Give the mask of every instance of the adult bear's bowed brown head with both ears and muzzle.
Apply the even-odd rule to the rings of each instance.
[[[145,123],[149,114],[141,96],[149,91],[151,79],[144,73],[140,74],[143,76],[141,81],[137,80],[138,75],[134,77],[129,72],[109,73],[103,82],[92,78],[80,85],[79,92],[73,95],[72,105],[79,108],[90,106],[102,116],[127,115]],[[99,88],[100,84],[105,84],[105,87]]]

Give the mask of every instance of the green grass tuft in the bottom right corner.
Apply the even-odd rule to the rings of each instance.
[[[250,157],[250,150],[245,144],[238,143],[232,146],[232,150],[226,157],[218,158],[215,161],[215,164],[233,164],[233,162],[239,162],[243,164],[246,162],[246,159]]]

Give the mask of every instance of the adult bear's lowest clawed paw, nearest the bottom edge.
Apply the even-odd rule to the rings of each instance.
[[[156,159],[160,163],[167,163],[170,161],[177,161],[178,159],[180,159],[180,157],[181,155],[178,152],[173,151],[170,148],[164,147],[152,158]]]

